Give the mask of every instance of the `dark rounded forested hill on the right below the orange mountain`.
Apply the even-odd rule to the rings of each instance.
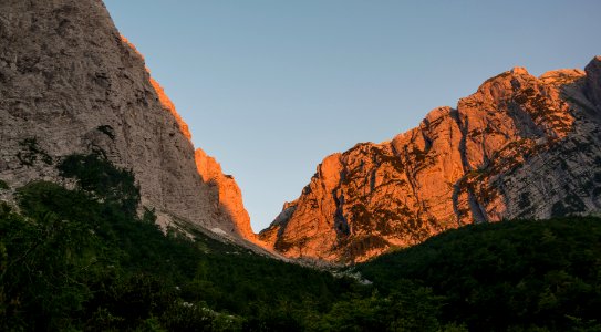
[[[467,226],[358,267],[383,291],[405,279],[469,330],[578,330],[601,322],[601,219]]]

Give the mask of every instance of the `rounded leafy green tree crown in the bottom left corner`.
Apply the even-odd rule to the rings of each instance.
[[[82,279],[94,274],[97,240],[81,222],[65,222],[46,210],[37,222],[7,206],[0,214],[3,260],[0,273],[0,326],[59,326],[92,294]]]

